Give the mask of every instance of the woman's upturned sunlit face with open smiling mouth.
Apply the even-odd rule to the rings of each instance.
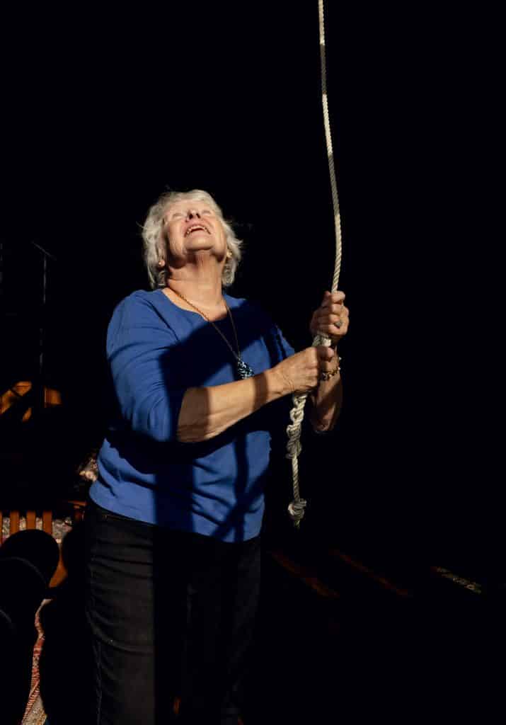
[[[210,204],[192,200],[170,204],[164,215],[169,265],[181,267],[198,252],[225,259],[225,230]]]

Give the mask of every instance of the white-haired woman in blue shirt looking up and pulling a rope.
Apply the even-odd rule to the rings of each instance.
[[[341,404],[344,294],[325,293],[294,350],[225,294],[241,242],[205,191],[164,194],[144,224],[153,291],[107,333],[115,413],[86,514],[94,724],[237,724],[260,588],[270,431],[307,392],[316,431]]]

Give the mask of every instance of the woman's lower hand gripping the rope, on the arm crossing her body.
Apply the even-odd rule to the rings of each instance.
[[[309,393],[318,386],[320,373],[333,368],[335,355],[335,350],[325,345],[307,347],[286,357],[273,371],[282,378],[286,394]]]

